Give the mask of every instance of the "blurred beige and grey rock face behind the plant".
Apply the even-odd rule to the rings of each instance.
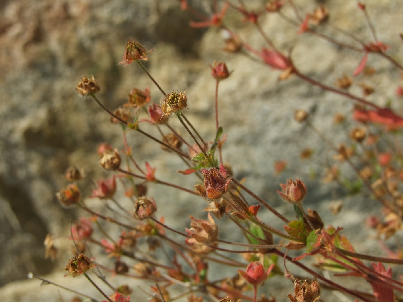
[[[303,13],[326,5],[331,23],[372,41],[355,1],[295,2]],[[191,3],[206,10],[202,1]],[[259,9],[261,3],[251,0],[247,5]],[[390,54],[398,60],[402,55],[402,6],[401,2],[386,0],[368,3],[380,41],[391,46]],[[284,12],[292,16],[289,7]],[[225,60],[234,72],[220,83],[220,121],[227,133],[224,160],[232,163],[235,177],[246,177],[249,188],[278,206],[279,211],[293,215],[275,191],[278,182],[299,176],[308,184],[306,205],[315,204],[324,221],[343,225],[353,238],[368,236],[363,221],[378,206],[371,200],[347,198],[341,214],[332,216],[329,202],[334,196],[330,186],[322,185],[319,178],[309,180],[312,164],[299,160],[303,148],[314,148],[318,158],[324,159],[328,147],[293,121],[294,110],[303,108],[312,114],[314,124],[339,143],[346,139],[345,130],[334,127],[332,116],[336,112],[349,115],[350,101],[293,77],[278,81],[278,72],[243,56],[222,52],[222,32],[189,27],[189,21],[195,19],[180,10],[177,0],[2,0],[0,14],[0,286],[25,279],[28,271],[36,275],[55,272],[56,279],[62,275],[60,267],[66,259],[45,260],[43,241],[48,233],[68,236],[69,221],[79,215],[56,201],[55,192],[66,185],[63,174],[69,165],[84,168],[88,178],[80,188],[89,196],[91,181],[108,175],[98,165],[98,144],[122,147],[121,127],[110,124],[108,115],[94,101],[75,92],[79,78],[93,74],[101,86],[100,100],[111,109],[125,103],[134,87],[150,86],[152,101],[159,103],[159,91],[138,66],[118,65],[129,37],[155,48],[146,67],[166,91],[187,91],[186,115],[208,140],[215,135],[215,83],[208,64]],[[237,12],[228,10],[227,24],[255,48],[264,47],[253,25],[241,20]],[[361,59],[362,54],[341,51],[316,37],[296,35],[296,28],[277,15],[265,14],[261,21],[281,50],[293,50],[293,60],[302,72],[328,85],[334,85],[343,74],[352,74]],[[324,31],[351,42],[331,29]],[[370,56],[368,64],[376,73],[360,76],[355,84],[374,86],[370,100],[380,105],[392,100],[399,110],[394,95],[401,84],[399,71],[378,56]],[[361,95],[357,85],[351,92]],[[171,124],[177,122],[172,120]],[[155,131],[148,125],[144,129]],[[193,186],[192,179],[176,173],[184,168],[179,159],[163,153],[138,133],[129,132],[127,136],[136,159],[140,163],[147,159],[156,166],[158,178]],[[273,163],[281,159],[288,161],[290,170],[276,177]],[[159,215],[175,228],[183,230],[189,224],[189,213],[197,216],[198,211],[201,218],[205,215],[202,209],[206,203],[194,201],[185,193],[168,190],[166,199],[167,192],[158,187],[150,186],[149,192],[158,203]],[[344,196],[343,191],[337,193],[337,198]],[[364,230],[358,233],[357,228]],[[226,226],[221,230],[223,234],[231,233]],[[361,240],[360,251],[374,252],[373,242]],[[5,301],[58,299],[56,289],[34,290],[33,284],[37,283],[6,285],[0,288],[0,297]]]

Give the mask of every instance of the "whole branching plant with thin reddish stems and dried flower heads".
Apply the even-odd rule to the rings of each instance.
[[[210,15],[196,11],[186,0],[181,0],[180,4],[181,9],[189,10],[199,19],[191,22],[190,26],[218,27],[226,32],[225,51],[234,55],[247,55],[252,61],[258,61],[271,70],[278,71],[279,79],[282,81],[298,77],[308,85],[336,93],[357,104],[353,119],[361,123],[361,126],[351,130],[349,144],[333,145],[332,141],[311,123],[309,114],[303,110],[295,112],[295,120],[306,123],[322,137],[334,151],[334,161],[339,165],[347,163],[356,172],[360,183],[343,179],[339,173],[339,165],[324,167],[328,168],[326,170],[328,181],[339,182],[350,188],[355,186],[359,190],[361,186],[363,188],[365,186],[370,194],[382,203],[387,213],[386,221],[382,222],[379,218],[377,220],[376,217],[371,217],[368,223],[386,237],[400,230],[403,217],[401,153],[398,147],[380,150],[379,139],[382,136],[397,136],[403,125],[403,118],[391,108],[381,108],[368,101],[365,95],[371,93],[372,87],[362,87],[364,97],[349,93],[348,88],[353,81],[347,75],[338,79],[336,87],[333,87],[303,74],[289,54],[278,50],[274,41],[260,25],[260,18],[264,14],[278,14],[285,21],[295,25],[297,34],[315,35],[318,39],[325,39],[340,48],[361,52],[363,57],[361,62],[357,62],[353,76],[364,72],[370,55],[388,60],[396,68],[403,70],[401,64],[387,54],[388,46],[378,40],[366,6],[357,2],[357,9],[361,10],[368,20],[374,41],[364,42],[342,31],[345,35],[353,37],[355,43],[350,45],[320,31],[322,26],[326,26],[329,17],[329,12],[324,6],[318,7],[313,12],[306,12],[303,17],[302,11],[292,0],[268,1],[262,4],[260,11],[249,10],[241,0],[238,2],[213,0],[213,13]],[[285,6],[292,8],[293,16],[287,16],[283,12]],[[256,30],[267,43],[266,47],[257,50],[247,41],[242,41],[235,31],[225,25],[225,14],[230,9],[242,14],[245,22],[256,26]],[[127,284],[115,286],[106,277],[118,274],[125,276],[127,280],[144,280],[149,285],[145,292],[149,294],[149,300],[154,302],[183,298],[189,302],[274,302],[276,298],[284,297],[268,298],[264,295],[259,296],[258,292],[262,287],[262,292],[266,287],[270,287],[270,278],[278,275],[293,282],[294,292],[288,295],[292,302],[319,301],[323,292],[321,289],[337,291],[347,300],[365,302],[399,300],[403,293],[403,283],[393,278],[392,268],[388,267],[403,264],[397,253],[389,251],[391,255],[389,258],[357,253],[353,244],[342,234],[342,228],[326,225],[316,211],[304,209],[303,200],[309,198],[309,192],[303,180],[289,179],[286,184],[279,185],[280,197],[289,207],[295,209],[297,218],[290,220],[250,190],[247,181],[234,177],[230,164],[222,162],[221,150],[225,146],[225,136],[218,115],[218,88],[220,81],[231,81],[231,72],[224,62],[214,62],[210,66],[212,79],[215,80],[215,100],[212,106],[215,108],[216,132],[211,133],[208,138],[203,138],[191,120],[186,117],[187,106],[192,101],[188,99],[186,92],[164,90],[141,63],[149,60],[149,53],[150,51],[140,43],[129,39],[121,64],[125,66],[137,64],[147,74],[150,85],[156,85],[161,93],[160,104],[151,102],[148,87],[139,87],[128,92],[127,103],[110,110],[98,99],[97,92],[102,87],[93,76],[83,77],[76,87],[80,95],[96,101],[106,114],[109,114],[111,122],[121,124],[124,129],[123,149],[119,150],[108,144],[102,144],[98,148],[100,166],[109,171],[110,176],[98,180],[89,196],[111,201],[116,207],[108,206],[104,211],[91,209],[79,189],[79,182],[85,175],[74,167],[66,172],[66,179],[72,183],[56,195],[65,207],[77,206],[88,213],[87,217],[81,217],[71,225],[70,238],[74,248],[71,260],[66,265],[66,276],[85,276],[99,290],[102,298],[91,297],[85,293],[76,292],[77,294],[98,302],[135,301],[130,298],[132,289]],[[402,90],[397,89],[397,93],[402,94]],[[191,140],[183,137],[179,129],[170,125],[171,119],[179,120],[181,130],[187,132]],[[340,124],[343,119],[343,116],[336,116],[335,122]],[[144,131],[142,126],[144,123],[152,124],[158,136]],[[186,167],[178,167],[178,172],[192,178],[194,187],[187,188],[158,179],[155,176],[158,167],[152,167],[147,161],[144,165],[138,163],[132,147],[126,140],[126,136],[133,132],[161,145],[163,151],[179,156]],[[361,153],[357,153],[357,148],[352,144],[359,145],[362,148]],[[301,157],[308,158],[312,154],[313,151],[307,149],[301,153]],[[286,165],[277,163],[276,167],[280,172]],[[120,182],[116,182],[117,179]],[[192,213],[191,223],[186,230],[176,230],[166,225],[162,213],[158,212],[159,201],[154,200],[152,192],[147,190],[149,183],[187,192],[193,197],[191,201],[194,203],[206,202],[205,211],[209,212],[207,217],[204,213]],[[133,202],[133,207],[130,209],[123,207],[122,203],[115,199],[118,186],[124,187],[125,196]],[[247,201],[246,195],[253,199],[253,204]],[[264,208],[282,221],[284,230],[275,228],[273,221],[261,218],[260,211]],[[100,221],[118,225],[123,231],[118,237],[114,237],[106,232]],[[231,223],[234,232],[243,235],[244,240],[231,242],[222,238],[220,223]],[[45,240],[46,253],[52,257],[55,257],[57,252],[54,240],[50,235]],[[145,243],[148,250],[141,251],[144,244],[139,242]],[[91,246],[100,246],[104,253],[113,259],[114,265],[111,267],[98,262],[97,255],[89,256]],[[172,251],[170,254],[174,256],[168,256],[166,248],[169,248]],[[156,250],[162,250],[169,257],[169,261],[154,257],[149,252]],[[289,256],[290,250],[299,250],[299,256]],[[228,254],[241,254],[243,260],[229,257]],[[315,265],[306,259],[314,260]],[[287,269],[287,263],[293,263],[303,273],[290,271]],[[232,269],[232,273],[224,279],[217,278],[209,273],[209,269],[216,265],[225,265],[228,271]],[[351,276],[364,283],[368,282],[372,286],[372,292],[355,290],[332,281],[318,271],[317,267],[324,270],[334,269],[339,272],[339,276]],[[108,291],[102,290],[97,285],[94,275],[100,278],[99,282],[105,283]],[[29,277],[44,280],[32,274]],[[172,292],[177,293],[178,288],[181,289],[181,293],[174,296]]]

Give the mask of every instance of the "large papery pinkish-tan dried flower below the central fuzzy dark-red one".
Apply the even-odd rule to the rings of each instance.
[[[186,229],[187,234],[191,238],[187,238],[185,240],[186,244],[189,246],[194,246],[198,244],[203,245],[216,245],[216,241],[218,239],[218,228],[216,223],[214,222],[211,214],[208,213],[208,221],[203,219],[195,219],[193,216],[190,216],[192,219],[190,225],[190,229]]]

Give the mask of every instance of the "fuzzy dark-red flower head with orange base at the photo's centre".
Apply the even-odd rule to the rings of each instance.
[[[229,178],[222,163],[220,165],[220,170],[216,168],[212,168],[210,171],[202,169],[202,174],[204,177],[204,187],[201,188],[201,185],[196,185],[195,188],[203,197],[208,199],[219,199],[222,194],[229,190],[231,178]]]

